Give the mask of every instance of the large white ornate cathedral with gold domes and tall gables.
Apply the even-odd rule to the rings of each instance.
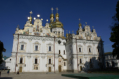
[[[42,26],[40,15],[32,11],[23,29],[19,26],[13,35],[12,55],[6,61],[10,72],[79,72],[99,69],[103,64],[103,41],[89,25],[64,36],[59,13],[51,9],[50,23]],[[48,20],[47,20],[48,21]],[[78,25],[78,24],[77,24]]]

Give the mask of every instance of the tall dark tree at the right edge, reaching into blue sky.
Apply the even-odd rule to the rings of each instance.
[[[112,51],[113,56],[117,56],[119,59],[119,1],[116,5],[116,14],[112,17],[115,21],[114,25],[111,27],[111,37],[110,41],[114,42],[112,47],[114,48]]]

